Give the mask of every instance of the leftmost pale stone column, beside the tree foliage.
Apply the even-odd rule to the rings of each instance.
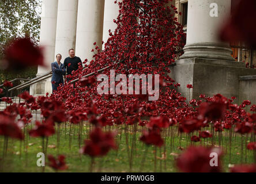
[[[51,62],[54,61],[58,0],[43,0],[40,26],[40,45],[44,47],[44,62],[47,67],[39,66],[37,75],[51,71]]]

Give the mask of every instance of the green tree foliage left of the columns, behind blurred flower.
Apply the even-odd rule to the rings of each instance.
[[[0,59],[6,45],[17,37],[29,36],[39,43],[41,0],[0,0]],[[12,78],[28,78],[36,74],[36,67],[20,73],[0,71],[0,81]]]

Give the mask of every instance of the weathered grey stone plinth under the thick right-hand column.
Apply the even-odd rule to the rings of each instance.
[[[239,99],[239,76],[256,75],[256,70],[246,68],[244,63],[196,57],[176,60],[176,66],[170,69],[171,78],[180,83],[178,91],[187,101],[198,99],[200,94],[212,97],[220,93],[227,98],[236,97],[238,104],[244,100]],[[193,85],[190,93],[187,84]]]

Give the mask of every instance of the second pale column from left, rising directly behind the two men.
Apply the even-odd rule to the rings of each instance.
[[[59,0],[58,3],[55,55],[61,53],[62,63],[69,56],[69,49],[76,47],[77,6],[78,0]]]

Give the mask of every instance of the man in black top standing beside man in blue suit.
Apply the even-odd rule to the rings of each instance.
[[[78,69],[78,63],[81,63],[82,66],[82,61],[80,57],[75,56],[74,49],[69,49],[69,57],[66,57],[63,63],[66,68],[67,75],[72,75],[72,71],[76,71]],[[70,79],[67,78],[67,82],[69,81]]]

